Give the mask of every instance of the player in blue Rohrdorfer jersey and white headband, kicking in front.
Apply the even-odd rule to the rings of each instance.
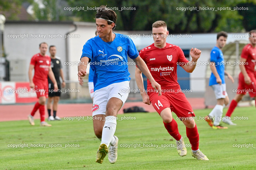
[[[116,27],[116,13],[106,6],[100,6],[95,19],[98,36],[84,44],[80,59],[82,64],[78,66],[78,80],[86,76],[86,67],[90,64],[94,71],[94,133],[101,140],[96,162],[102,163],[109,152],[108,160],[115,163],[118,147],[118,138],[114,136],[116,115],[130,91],[127,56],[136,62],[159,95],[161,87],[150,74],[146,63],[139,57],[132,40],[126,35],[112,32]]]

